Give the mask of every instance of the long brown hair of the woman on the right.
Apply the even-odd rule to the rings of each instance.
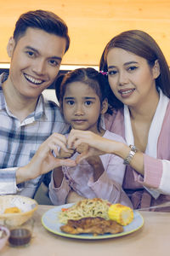
[[[150,37],[149,34],[140,30],[130,30],[122,32],[105,46],[105,50],[101,56],[99,63],[99,70],[107,72],[107,55],[113,48],[122,48],[135,55],[143,57],[150,67],[153,67],[155,61],[159,62],[160,75],[156,79],[156,89],[161,88],[162,92],[170,98],[170,72],[165,56],[156,41]],[[109,103],[114,108],[122,108],[123,104],[120,102],[110,89],[108,98]]]

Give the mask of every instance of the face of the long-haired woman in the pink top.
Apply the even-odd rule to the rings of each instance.
[[[111,90],[122,103],[140,107],[158,97],[155,79],[159,76],[159,64],[154,67],[133,53],[113,48],[107,55],[108,79]]]

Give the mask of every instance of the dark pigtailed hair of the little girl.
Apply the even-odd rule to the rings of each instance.
[[[63,97],[65,96],[66,85],[73,82],[88,84],[99,96],[101,104],[105,98],[107,98],[108,90],[110,90],[108,81],[102,73],[99,73],[92,67],[77,68],[65,75],[60,75],[55,81],[55,94],[61,109],[63,108]],[[112,113],[111,106],[108,107],[107,113]]]

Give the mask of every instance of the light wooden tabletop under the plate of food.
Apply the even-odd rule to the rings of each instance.
[[[3,256],[169,256],[170,213],[141,212],[144,226],[136,232],[105,240],[78,240],[54,235],[41,224],[51,206],[39,206],[34,214],[33,238],[26,247],[3,248]]]

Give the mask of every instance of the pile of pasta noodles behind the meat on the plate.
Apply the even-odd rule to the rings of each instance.
[[[108,209],[111,203],[99,198],[84,199],[70,208],[64,208],[59,212],[59,222],[66,224],[68,219],[80,219],[87,217],[101,217],[109,219]]]

